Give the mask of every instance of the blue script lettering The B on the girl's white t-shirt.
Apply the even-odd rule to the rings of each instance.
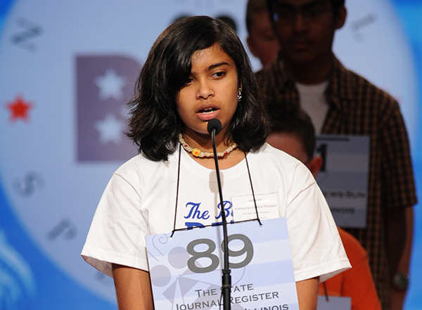
[[[233,205],[230,201],[224,200],[224,211],[226,214],[227,221],[233,221]],[[188,220],[185,221],[186,228],[192,229],[194,227],[204,228],[205,226],[217,226],[222,224],[222,207],[219,203],[217,205],[217,216],[212,217],[212,213],[210,214],[210,210],[206,209],[205,207],[201,206],[201,202],[188,202],[186,203],[186,216],[184,219]],[[215,219],[215,221],[212,221]]]

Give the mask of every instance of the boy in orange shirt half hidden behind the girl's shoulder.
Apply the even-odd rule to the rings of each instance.
[[[314,156],[316,138],[311,119],[299,109],[279,112],[271,115],[274,121],[267,143],[300,160],[316,177],[322,158]],[[381,310],[366,251],[350,233],[339,227],[338,232],[352,269],[321,283],[319,295],[351,297],[352,310]]]

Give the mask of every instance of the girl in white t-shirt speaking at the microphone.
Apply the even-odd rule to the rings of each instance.
[[[276,193],[300,309],[316,309],[319,280],[350,265],[307,168],[265,144],[267,116],[236,33],[206,16],[174,22],[153,44],[129,107],[128,136],[139,155],[113,174],[82,250],[114,278],[119,309],[153,309],[146,235],[221,221],[207,132],[213,118],[222,122],[216,143],[224,209],[231,214],[233,198],[252,197],[252,188]]]

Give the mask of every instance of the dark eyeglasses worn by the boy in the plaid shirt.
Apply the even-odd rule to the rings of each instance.
[[[328,1],[313,1],[303,6],[276,2],[273,5],[273,18],[277,23],[292,24],[298,15],[301,15],[306,22],[319,22],[331,9],[331,4]]]

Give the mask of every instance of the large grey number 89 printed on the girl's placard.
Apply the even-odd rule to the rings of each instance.
[[[231,250],[230,243],[234,240],[241,240],[243,243],[243,247],[240,250]],[[244,256],[243,261],[231,263],[229,262],[229,268],[231,269],[239,269],[247,266],[253,258],[253,245],[252,241],[246,236],[240,233],[236,233],[233,235],[229,235],[228,237],[229,243],[229,257],[240,257]],[[205,247],[205,250],[202,250]],[[223,243],[220,245],[222,251],[224,252]],[[237,247],[237,246],[236,246]],[[198,251],[198,248],[201,251]],[[219,266],[219,257],[215,254],[215,250],[217,246],[215,242],[211,239],[201,238],[192,240],[186,246],[186,251],[191,257],[188,259],[187,265],[188,269],[193,273],[207,273],[211,271],[215,271]],[[200,260],[200,264],[203,266],[197,266],[196,261]]]

